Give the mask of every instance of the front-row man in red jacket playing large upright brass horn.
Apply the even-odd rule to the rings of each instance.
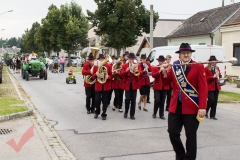
[[[105,56],[103,54],[99,54],[98,60],[100,63],[105,59]],[[99,63],[99,64],[100,64]],[[93,72],[92,72],[92,77],[96,79],[95,82],[95,106],[96,106],[96,111],[94,118],[96,119],[98,115],[101,112],[100,105],[101,102],[103,102],[103,108],[102,108],[102,120],[106,120],[107,118],[107,106],[108,106],[108,93],[111,90],[111,79],[112,79],[112,67],[108,64],[105,63],[103,66],[106,67],[106,70],[104,71],[104,78],[107,79],[104,84],[101,84],[98,82],[97,78],[102,76],[102,73],[98,72],[98,67],[99,66],[94,66],[93,67]]]

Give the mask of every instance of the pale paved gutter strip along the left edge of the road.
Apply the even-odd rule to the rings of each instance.
[[[8,73],[9,74],[9,73]],[[11,75],[9,75],[11,77]],[[18,87],[16,83],[18,83],[17,80],[13,80],[12,78],[15,78],[14,75],[12,75],[11,80],[14,84],[14,87],[16,90],[18,90]],[[15,78],[16,79],[16,78]],[[34,116],[36,117],[36,122],[32,121],[35,126],[38,125],[39,129],[38,132],[42,132],[42,134],[45,137],[41,137],[45,147],[47,148],[47,151],[49,155],[52,157],[53,160],[76,160],[76,158],[73,156],[73,154],[68,150],[68,148],[65,146],[65,144],[62,142],[61,138],[57,134],[57,132],[51,127],[50,123],[47,121],[47,119],[42,116],[37,108],[34,106],[34,104],[28,100],[24,99],[21,95],[21,92],[17,91],[18,95],[25,101],[26,105],[30,109],[29,111],[31,114],[34,113]],[[18,114],[18,113],[16,113]],[[18,116],[18,115],[16,115]],[[14,118],[14,116],[12,116]]]

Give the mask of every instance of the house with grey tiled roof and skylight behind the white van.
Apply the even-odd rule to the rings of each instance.
[[[220,27],[238,12],[240,3],[201,11],[188,18],[169,34],[169,46],[189,43],[196,45],[222,45]]]

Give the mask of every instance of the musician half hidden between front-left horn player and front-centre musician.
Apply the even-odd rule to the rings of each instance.
[[[119,112],[122,111],[122,101],[123,101],[123,89],[121,88],[122,78],[120,72],[122,70],[122,61],[121,57],[118,60],[115,60],[112,66],[112,89],[114,91],[115,97],[113,101],[112,110],[115,111],[116,108],[119,109]]]

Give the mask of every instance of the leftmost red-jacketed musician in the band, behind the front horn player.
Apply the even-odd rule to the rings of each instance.
[[[85,62],[83,65],[83,70],[82,70],[83,76],[91,75],[91,69],[94,63],[94,57],[92,53],[89,54],[87,60],[88,61]],[[92,113],[95,112],[95,85],[87,84],[86,81],[84,81],[84,87],[85,87],[85,94],[86,94],[87,114],[91,114],[91,112]],[[92,103],[91,103],[91,100],[92,100]]]

